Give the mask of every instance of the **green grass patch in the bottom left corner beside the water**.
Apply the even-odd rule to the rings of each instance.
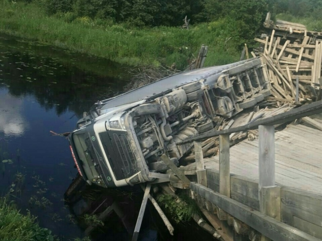
[[[29,212],[23,215],[12,202],[0,198],[1,241],[53,241],[51,231],[40,228],[35,221]]]

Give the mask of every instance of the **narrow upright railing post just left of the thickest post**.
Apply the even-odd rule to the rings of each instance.
[[[219,136],[219,192],[230,197],[229,135]]]

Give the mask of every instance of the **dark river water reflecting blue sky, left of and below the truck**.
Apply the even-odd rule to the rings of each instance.
[[[30,210],[60,240],[85,234],[63,199],[77,174],[68,141],[50,131],[75,129],[94,102],[122,91],[127,70],[104,59],[0,34],[0,192],[10,193],[23,213]],[[134,225],[141,198],[140,193],[125,204],[123,200]],[[169,237],[156,217],[149,204],[140,240],[200,237],[190,224],[175,228],[175,237]],[[109,217],[108,235],[96,240],[127,240],[117,219]]]

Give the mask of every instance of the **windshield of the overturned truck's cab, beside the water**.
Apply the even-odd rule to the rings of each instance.
[[[78,154],[84,172],[87,176],[87,179],[92,180],[93,178],[99,176],[97,170],[95,169],[94,159],[91,143],[89,137],[86,133],[74,133],[73,134],[73,141],[75,144],[76,152]]]

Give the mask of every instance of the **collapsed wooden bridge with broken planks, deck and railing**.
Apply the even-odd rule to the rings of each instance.
[[[254,110],[222,118],[212,133],[185,139],[182,144],[194,142],[187,165],[177,167],[161,157],[170,169],[151,173],[156,180],[141,186],[136,226],[125,225],[133,241],[148,199],[173,234],[150,193],[153,185],[178,202],[184,201],[176,189],[186,190],[204,216],[194,214],[194,221],[221,241],[322,240],[322,34],[298,24],[273,23],[269,14],[264,26],[270,36],[256,39],[262,49],[251,54],[267,66],[272,96]],[[113,203],[102,218],[111,210],[120,209]]]

